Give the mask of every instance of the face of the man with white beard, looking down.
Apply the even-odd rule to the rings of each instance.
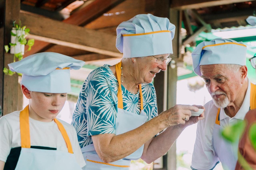
[[[239,90],[243,83],[240,70],[235,73],[225,64],[201,65],[200,70],[201,77],[218,108],[225,108],[240,97]]]

